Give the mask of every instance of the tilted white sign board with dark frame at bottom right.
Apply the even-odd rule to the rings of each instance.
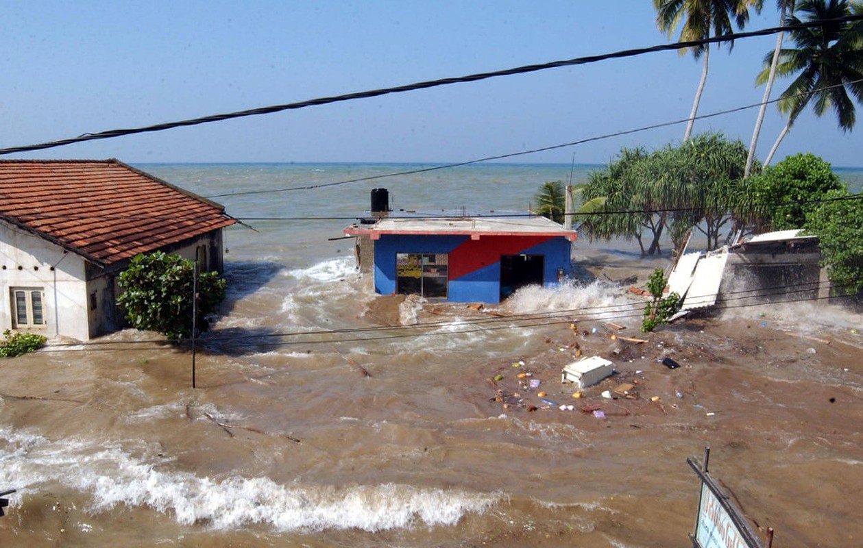
[[[709,450],[705,453],[707,463]],[[692,535],[694,548],[770,548],[772,529],[768,531],[767,544],[761,542],[746,520],[743,511],[734,504],[730,494],[722,488],[707,467],[702,469],[693,459],[686,459],[702,480],[701,497],[698,501],[696,532]]]

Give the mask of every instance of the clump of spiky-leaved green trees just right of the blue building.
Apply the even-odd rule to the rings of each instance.
[[[605,201],[597,208],[601,214],[583,217],[582,229],[591,240],[635,239],[643,255],[661,251],[663,234],[680,249],[693,229],[702,231],[714,248],[746,198],[745,167],[743,143],[715,133],[652,153],[624,148],[583,186],[583,199]]]

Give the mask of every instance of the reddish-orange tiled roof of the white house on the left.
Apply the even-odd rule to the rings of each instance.
[[[102,265],[236,222],[117,160],[0,161],[0,218]]]

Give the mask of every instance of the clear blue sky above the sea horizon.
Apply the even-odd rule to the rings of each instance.
[[[778,26],[774,3],[745,30]],[[414,82],[651,47],[649,0],[53,2],[0,17],[0,148]],[[757,104],[774,35],[710,54],[699,115]],[[683,120],[702,64],[675,51],[76,143],[5,159],[145,162],[460,162]],[[790,80],[778,80],[774,96]],[[858,105],[858,110],[860,110]],[[757,109],[696,121],[748,144]],[[859,112],[863,118],[863,112]],[[784,126],[774,105],[764,159]],[[604,164],[679,144],[685,123],[507,161]],[[778,149],[861,167],[863,127],[807,110]]]

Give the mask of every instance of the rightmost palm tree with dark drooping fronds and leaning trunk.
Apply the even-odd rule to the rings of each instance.
[[[814,22],[863,13],[863,5],[847,0],[805,0],[797,6],[797,11],[805,14],[805,22]],[[799,24],[801,20],[793,15],[785,22],[786,26]],[[848,91],[863,103],[863,22],[828,22],[790,34],[797,48],[783,48],[779,52],[776,73],[779,76],[799,74],[779,96],[779,111],[788,115],[788,122],[767,154],[765,166],[770,164],[797,116],[813,99],[816,116],[833,110],[843,131],[853,129],[856,121],[854,101]],[[771,56],[772,53],[765,57],[765,65]],[[765,68],[759,74],[759,84],[768,79],[768,72],[769,68]]]

